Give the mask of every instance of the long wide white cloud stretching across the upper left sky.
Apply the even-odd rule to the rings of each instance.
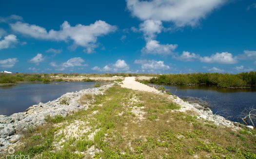
[[[67,21],[64,21],[60,25],[60,30],[47,30],[43,27],[16,22],[10,24],[10,27],[13,31],[19,32],[21,34],[44,40],[56,40],[56,41],[69,41],[72,40],[73,46],[71,48],[76,48],[81,46],[87,53],[92,53],[95,48],[97,48],[97,38],[99,36],[106,35],[110,32],[115,32],[117,30],[116,26],[110,25],[105,21],[98,20],[90,25],[77,24],[72,27]]]

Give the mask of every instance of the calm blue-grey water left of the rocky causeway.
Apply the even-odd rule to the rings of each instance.
[[[94,88],[96,82],[24,82],[13,86],[0,86],[0,114],[11,115],[28,107],[57,99],[67,92]]]

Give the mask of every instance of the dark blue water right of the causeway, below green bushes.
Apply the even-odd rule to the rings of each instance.
[[[224,117],[232,116],[228,118],[232,121],[239,121],[236,117],[245,108],[256,107],[256,89],[227,89],[202,85],[163,86],[180,98],[192,96],[206,100],[213,113]]]

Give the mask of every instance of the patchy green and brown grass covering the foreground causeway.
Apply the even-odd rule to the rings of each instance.
[[[169,95],[115,85],[84,95],[87,110],[46,116],[17,154],[35,159],[256,159],[255,130],[233,131],[180,112]]]

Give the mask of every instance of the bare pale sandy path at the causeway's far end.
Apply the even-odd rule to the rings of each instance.
[[[154,92],[154,93],[160,93],[157,89],[149,87],[145,84],[139,83],[135,81],[135,77],[126,77],[123,81],[123,84],[121,84],[121,87],[123,88],[129,88],[133,90],[138,91],[146,91],[146,92]]]

